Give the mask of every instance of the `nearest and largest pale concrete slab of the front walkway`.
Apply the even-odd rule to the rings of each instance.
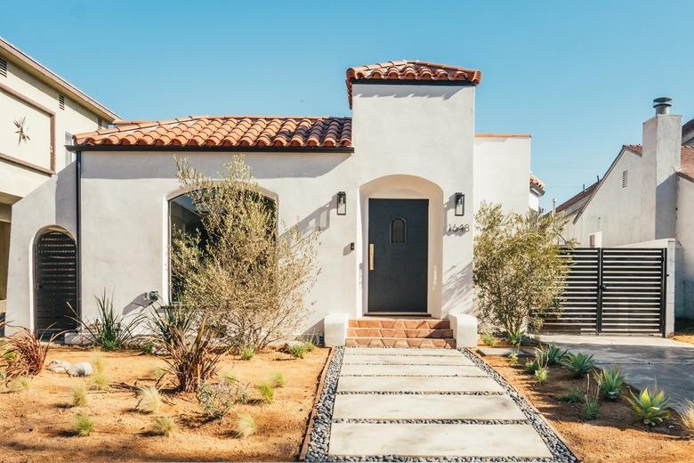
[[[529,425],[335,423],[329,455],[551,458]]]

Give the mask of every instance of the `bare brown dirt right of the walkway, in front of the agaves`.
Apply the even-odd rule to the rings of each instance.
[[[564,436],[569,445],[588,463],[638,461],[692,461],[694,442],[683,437],[676,414],[665,425],[650,429],[633,418],[628,402],[601,401],[600,416],[593,421],[583,418],[583,403],[558,400],[572,387],[585,390],[585,379],[574,379],[568,370],[552,367],[550,379],[538,386],[522,368],[512,368],[505,357],[480,357],[523,394]],[[525,361],[520,360],[521,364]],[[593,384],[594,386],[594,384]]]

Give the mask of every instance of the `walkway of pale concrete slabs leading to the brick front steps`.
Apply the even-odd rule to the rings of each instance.
[[[344,350],[329,455],[553,457],[518,404],[463,353],[367,351]]]

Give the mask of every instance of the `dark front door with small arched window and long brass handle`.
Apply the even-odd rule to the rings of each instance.
[[[426,313],[429,199],[368,200],[368,312]]]

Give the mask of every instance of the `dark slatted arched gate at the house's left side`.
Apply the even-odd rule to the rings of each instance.
[[[36,334],[77,329],[77,245],[68,233],[49,229],[36,238],[34,294]]]

